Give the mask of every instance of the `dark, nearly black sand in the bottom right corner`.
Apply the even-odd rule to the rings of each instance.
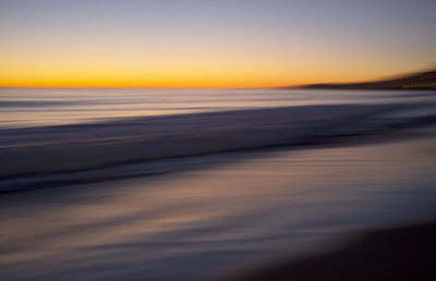
[[[238,281],[436,280],[436,222],[361,233],[337,251],[263,265]]]

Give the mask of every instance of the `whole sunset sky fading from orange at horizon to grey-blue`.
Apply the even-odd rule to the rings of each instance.
[[[436,66],[436,1],[0,0],[2,87],[271,87]]]

